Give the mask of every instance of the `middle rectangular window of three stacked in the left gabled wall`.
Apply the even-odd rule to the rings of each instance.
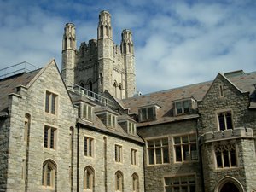
[[[46,138],[45,132],[47,131],[47,146],[45,146]],[[52,132],[54,136],[52,137]],[[52,143],[53,141],[53,143]],[[57,128],[52,125],[44,125],[44,148],[48,148],[51,150],[56,150],[57,148]]]

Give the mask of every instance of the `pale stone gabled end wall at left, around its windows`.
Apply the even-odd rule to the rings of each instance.
[[[45,113],[45,92],[52,91],[58,95],[57,115]],[[24,142],[24,117],[31,115],[30,148],[27,191],[51,191],[42,186],[42,169],[44,160],[54,160],[57,165],[57,187],[55,191],[70,191],[69,166],[71,154],[69,148],[69,128],[75,127],[77,110],[67,95],[55,64],[45,68],[38,79],[22,97],[13,96],[11,105],[10,143],[9,143],[9,180],[8,191],[24,191],[21,179],[21,162],[26,158]],[[35,108],[36,106],[36,108]],[[57,128],[56,149],[44,148],[44,125]],[[23,189],[22,189],[23,188]]]

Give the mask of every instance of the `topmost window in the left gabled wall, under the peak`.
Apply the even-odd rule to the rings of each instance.
[[[45,91],[45,102],[44,102],[44,111],[52,115],[57,115],[58,104],[59,104],[59,95],[50,91]]]

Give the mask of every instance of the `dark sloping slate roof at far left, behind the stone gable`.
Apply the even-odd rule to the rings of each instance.
[[[29,72],[19,73],[5,79],[0,79],[0,113],[7,112],[8,95],[15,93],[17,86],[26,86],[39,73],[40,69]]]

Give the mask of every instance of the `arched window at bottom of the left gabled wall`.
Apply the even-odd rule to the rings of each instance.
[[[56,166],[55,162],[52,160],[46,160],[43,164],[43,174],[42,174],[42,185],[45,187],[55,188],[56,181]]]

